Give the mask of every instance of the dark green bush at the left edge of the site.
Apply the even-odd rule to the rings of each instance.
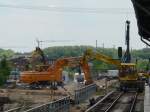
[[[8,76],[10,74],[10,67],[6,60],[6,57],[4,56],[3,59],[0,61],[0,85],[3,85]]]

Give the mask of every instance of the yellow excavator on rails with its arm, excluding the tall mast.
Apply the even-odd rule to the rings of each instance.
[[[138,76],[136,64],[122,63],[121,60],[112,59],[109,56],[94,52],[90,49],[85,51],[84,58],[86,60],[96,59],[108,64],[115,65],[119,70],[118,76],[121,91],[136,89],[142,92],[144,90],[144,81],[142,81]]]

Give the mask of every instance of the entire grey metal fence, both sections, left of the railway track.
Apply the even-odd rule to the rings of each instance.
[[[96,92],[96,84],[91,84],[75,90],[74,101],[75,104],[79,104],[89,98],[92,94]],[[35,108],[31,108],[24,112],[69,112],[70,111],[70,96],[56,100],[54,102],[49,102],[47,104],[40,105]]]

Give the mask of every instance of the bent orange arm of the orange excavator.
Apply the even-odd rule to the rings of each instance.
[[[87,60],[84,60],[83,57],[71,57],[71,58],[62,58],[56,61],[56,63],[49,68],[49,72],[53,72],[56,76],[56,80],[61,81],[62,80],[62,70],[64,67],[69,66],[69,67],[77,67],[81,66],[84,75],[85,75],[85,80],[86,84],[91,84],[92,78],[90,75],[90,68],[88,65]]]

